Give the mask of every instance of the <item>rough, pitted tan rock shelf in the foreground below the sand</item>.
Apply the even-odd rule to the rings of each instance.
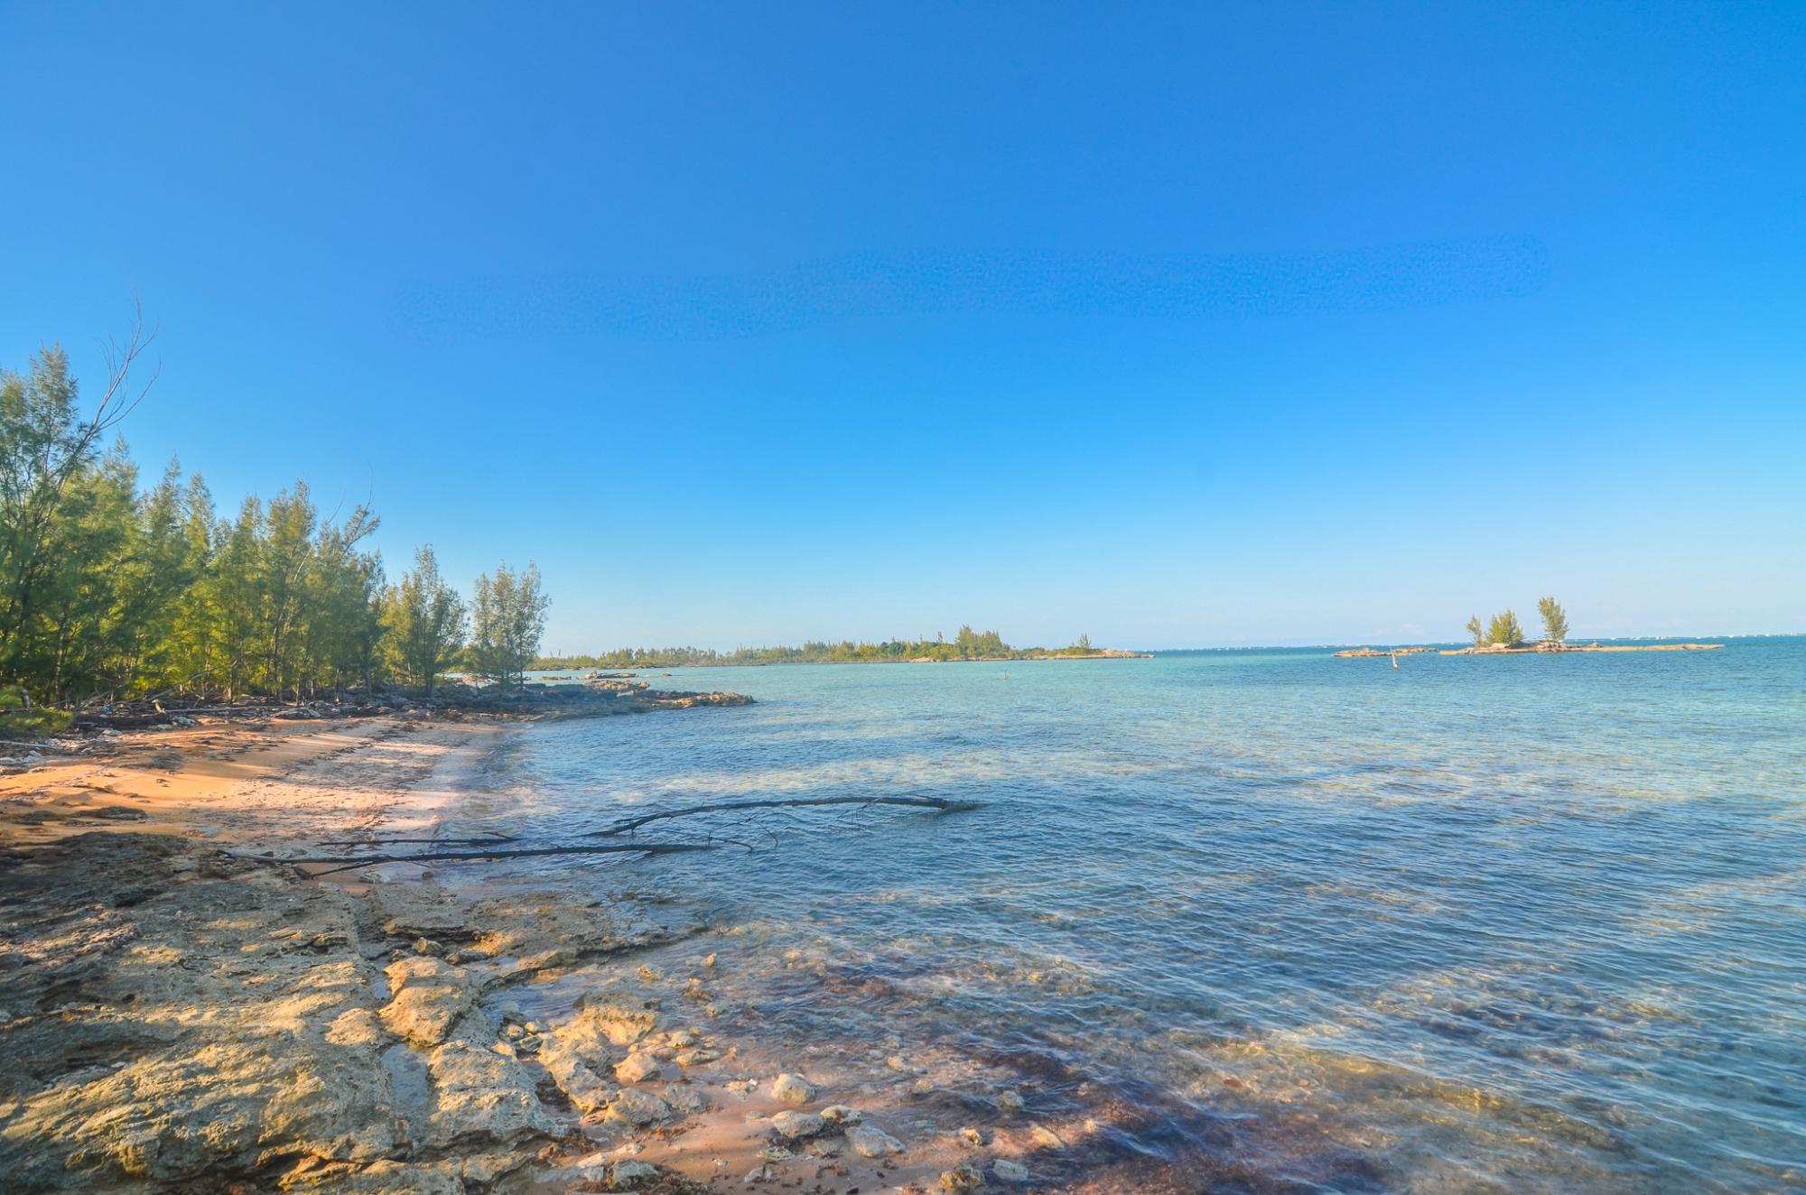
[[[159,834],[0,854],[0,1188],[489,1191],[576,1116],[675,1116],[601,1079],[657,1020],[643,996],[598,1000],[569,1045],[498,1043],[482,1011],[526,959],[607,951],[623,924],[401,888]]]

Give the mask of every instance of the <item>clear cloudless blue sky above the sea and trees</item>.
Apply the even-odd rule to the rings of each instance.
[[[1806,630],[1806,5],[0,5],[0,361],[547,646]]]

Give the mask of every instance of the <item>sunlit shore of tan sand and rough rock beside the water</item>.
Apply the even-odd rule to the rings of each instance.
[[[220,722],[5,774],[7,1190],[1033,1188],[1096,1130],[1008,1069],[730,1029],[731,930],[657,897],[244,857],[430,838],[518,731]]]

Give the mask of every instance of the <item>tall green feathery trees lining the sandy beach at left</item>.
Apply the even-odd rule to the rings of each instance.
[[[305,482],[213,507],[175,464],[150,484],[103,442],[143,401],[143,325],[87,413],[69,357],[0,368],[0,688],[40,706],[190,693],[312,697],[462,664],[518,684],[549,599],[535,565],[477,578],[466,605],[430,547],[390,583],[368,507],[321,516]],[[7,702],[11,704],[11,702]]]

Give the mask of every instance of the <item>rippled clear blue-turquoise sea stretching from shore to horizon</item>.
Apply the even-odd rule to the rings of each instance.
[[[661,885],[760,959],[816,960],[757,978],[780,1033],[883,1025],[1098,1110],[1075,1164],[1806,1186],[1806,639],[654,682],[759,704],[535,727],[471,820],[556,839],[625,805],[982,801],[715,823],[739,845],[538,877]]]

